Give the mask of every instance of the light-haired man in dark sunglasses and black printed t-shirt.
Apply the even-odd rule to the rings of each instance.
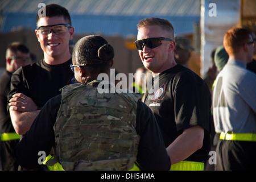
[[[162,130],[171,170],[204,169],[210,150],[207,85],[196,73],[176,64],[174,28],[168,20],[142,19],[135,44],[144,67],[159,81],[159,88],[148,92],[144,102]]]

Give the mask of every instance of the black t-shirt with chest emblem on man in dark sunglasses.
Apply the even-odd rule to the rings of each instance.
[[[177,64],[159,74],[159,88],[150,93],[144,103],[154,113],[166,147],[184,129],[199,125],[205,129],[203,147],[186,160],[202,162],[207,159],[211,121],[211,97],[207,84],[196,73]]]

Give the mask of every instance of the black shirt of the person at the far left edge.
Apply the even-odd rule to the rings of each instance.
[[[11,123],[11,118],[7,112],[8,105],[8,93],[10,92],[11,73],[5,71],[0,78],[0,124],[1,133],[15,132],[14,127]]]

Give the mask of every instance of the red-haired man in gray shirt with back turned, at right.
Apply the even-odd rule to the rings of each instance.
[[[216,170],[255,171],[256,75],[246,69],[253,60],[255,42],[250,31],[232,28],[223,43],[229,60],[213,90],[213,121],[220,134]]]

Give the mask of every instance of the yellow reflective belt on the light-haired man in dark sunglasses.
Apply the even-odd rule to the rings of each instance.
[[[170,171],[204,171],[204,163],[181,161],[171,165]]]

